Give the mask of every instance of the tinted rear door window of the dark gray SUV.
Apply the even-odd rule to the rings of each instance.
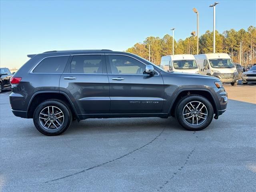
[[[71,61],[71,73],[102,73],[102,55],[76,55]]]

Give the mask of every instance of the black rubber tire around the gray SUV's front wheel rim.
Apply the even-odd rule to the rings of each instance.
[[[186,105],[189,104],[190,102],[192,102],[192,104],[194,104],[193,102],[195,102],[195,103],[201,102],[206,107],[208,115],[207,115],[207,117],[204,116],[204,117],[206,117],[205,120],[199,118],[202,120],[201,124],[191,125],[184,119],[186,116],[183,117],[183,110],[185,110]],[[208,127],[210,125],[210,123],[212,122],[213,114],[214,114],[214,110],[213,110],[213,107],[212,107],[212,104],[210,103],[210,101],[200,95],[188,95],[188,96],[181,98],[179,100],[179,102],[176,106],[176,110],[175,110],[175,117],[176,117],[177,121],[180,123],[180,125],[182,127],[184,127],[186,130],[190,130],[190,131],[203,130],[204,128]]]

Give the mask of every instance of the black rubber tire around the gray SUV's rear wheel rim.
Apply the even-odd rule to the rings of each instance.
[[[55,130],[47,130],[44,128],[44,126],[41,124],[42,120],[40,122],[40,112],[44,109],[47,108],[48,106],[54,106],[63,113],[63,121],[61,122],[62,124],[59,126],[56,122],[56,125],[59,126]],[[47,118],[50,118],[50,116],[46,116]],[[72,122],[72,112],[68,108],[67,104],[61,100],[46,100],[38,105],[38,107],[35,109],[34,114],[33,114],[33,121],[34,125],[36,126],[37,130],[41,132],[44,135],[48,136],[56,136],[59,134],[62,134],[66,129],[70,126]],[[46,120],[44,120],[46,121]],[[49,123],[48,123],[49,124]],[[47,125],[47,124],[46,124]],[[50,125],[50,128],[53,125]]]

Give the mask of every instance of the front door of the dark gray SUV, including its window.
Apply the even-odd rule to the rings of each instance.
[[[144,74],[146,64],[131,56],[106,54],[111,113],[160,113],[164,102],[162,76]]]

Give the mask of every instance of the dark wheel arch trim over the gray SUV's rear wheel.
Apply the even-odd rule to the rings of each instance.
[[[38,91],[34,93],[28,103],[27,117],[33,118],[33,113],[36,109],[36,106],[48,99],[58,99],[64,101],[70,107],[73,116],[75,116],[78,121],[80,120],[76,108],[74,107],[74,104],[72,103],[68,95],[64,92],[59,91]]]

